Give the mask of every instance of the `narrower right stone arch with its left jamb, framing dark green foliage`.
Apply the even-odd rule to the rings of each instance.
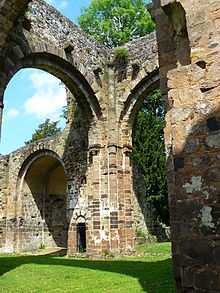
[[[152,206],[147,202],[146,194],[146,183],[142,174],[142,170],[139,168],[137,163],[133,159],[132,149],[133,149],[133,138],[135,132],[135,124],[139,111],[142,108],[144,101],[147,103],[149,95],[151,95],[155,90],[160,88],[160,76],[158,68],[153,68],[152,71],[148,72],[138,83],[135,84],[134,88],[127,99],[124,102],[124,108],[120,113],[120,123],[123,133],[127,135],[127,141],[130,144],[130,164],[132,165],[132,189],[133,189],[133,218],[134,218],[134,228],[136,231],[141,231],[145,233],[145,236],[155,237],[157,241],[166,241],[169,238],[169,227],[165,224],[160,223],[156,219],[155,213],[153,212]],[[161,99],[161,104],[163,111],[163,101]],[[132,139],[131,139],[132,138]],[[159,139],[159,138],[158,138]],[[164,142],[163,142],[163,146]],[[147,150],[145,150],[147,152]],[[142,150],[143,152],[143,150]],[[165,153],[161,150],[161,155],[164,156],[165,163]],[[154,157],[155,158],[155,157]],[[152,158],[152,161],[154,160]],[[154,161],[154,168],[155,162]],[[150,162],[149,162],[150,164]],[[149,168],[150,170],[150,168]],[[166,173],[166,167],[164,166],[164,173]],[[165,175],[164,175],[165,176]],[[165,197],[167,198],[167,189],[165,187],[164,191]]]

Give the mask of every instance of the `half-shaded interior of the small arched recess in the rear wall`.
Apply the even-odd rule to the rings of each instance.
[[[66,175],[54,157],[38,158],[29,167],[21,192],[22,252],[67,246]]]

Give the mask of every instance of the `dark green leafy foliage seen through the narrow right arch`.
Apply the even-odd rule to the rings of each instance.
[[[133,159],[143,171],[147,201],[158,219],[169,223],[166,159],[163,139],[164,109],[160,91],[145,99],[133,133]]]

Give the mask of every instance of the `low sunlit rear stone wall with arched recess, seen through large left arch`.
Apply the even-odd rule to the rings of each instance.
[[[73,130],[70,132],[70,128]],[[48,140],[40,140],[23,147],[8,156],[2,156],[1,202],[5,203],[1,212],[2,246],[1,252],[27,252],[39,248],[41,243],[47,247],[66,246],[68,222],[77,210],[81,181],[85,177],[87,160],[85,124],[67,125],[61,135]],[[77,133],[77,129],[79,133]],[[24,169],[33,158],[56,154],[64,166],[67,182],[64,187],[62,174],[54,173],[54,179],[47,183],[47,193],[43,191],[42,180],[47,180],[47,165],[36,169],[22,179]],[[39,168],[39,167],[38,167]],[[28,169],[29,170],[29,169]],[[49,170],[49,169],[48,169]],[[37,172],[37,173],[36,173]],[[42,178],[39,177],[42,174]],[[37,178],[39,177],[39,178]],[[45,178],[45,179],[44,179]],[[51,177],[50,177],[51,178]],[[21,185],[21,181],[24,184]],[[53,181],[54,180],[54,181]],[[60,188],[62,187],[62,190]],[[74,192],[73,192],[74,191]],[[82,195],[82,194],[81,194]],[[76,202],[73,206],[73,201]],[[79,208],[79,205],[78,205]],[[80,209],[82,207],[80,206]],[[3,217],[4,212],[4,217]],[[44,217],[43,215],[44,214]],[[43,232],[42,232],[43,231]],[[4,238],[7,233],[7,239]]]

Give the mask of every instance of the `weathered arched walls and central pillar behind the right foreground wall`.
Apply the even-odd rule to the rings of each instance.
[[[88,255],[130,254],[135,227],[163,237],[143,195],[135,197],[131,158],[136,114],[159,85],[155,33],[126,44],[128,58],[121,60],[43,0],[24,7],[18,17],[5,12],[13,23],[0,46],[0,100],[18,70],[34,67],[60,78],[78,108],[60,136],[1,157],[0,251],[25,252],[44,243],[66,245],[75,255],[83,218]]]

